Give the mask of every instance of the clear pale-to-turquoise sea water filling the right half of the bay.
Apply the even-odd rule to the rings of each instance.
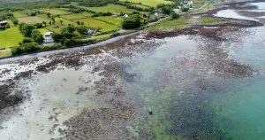
[[[230,58],[259,70],[254,77],[213,76],[197,63],[203,59],[198,36],[166,38],[154,52],[128,60],[126,72],[135,77],[125,87],[140,113],[129,131],[139,139],[265,139],[264,31],[250,28],[251,34],[225,43]]]

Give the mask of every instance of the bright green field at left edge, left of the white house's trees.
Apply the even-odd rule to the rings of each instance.
[[[19,27],[11,27],[4,31],[0,31],[0,48],[10,48],[12,46],[19,46],[23,41],[24,36],[20,34]]]

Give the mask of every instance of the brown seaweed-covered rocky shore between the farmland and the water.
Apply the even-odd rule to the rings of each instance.
[[[230,6],[233,7],[233,5]],[[201,13],[201,16],[210,17],[215,12],[217,10]],[[101,78],[99,81],[91,83],[91,86],[80,87],[76,96],[91,89],[95,91],[95,95],[90,98],[98,104],[98,107],[94,109],[83,108],[81,113],[72,116],[63,124],[55,123],[50,128],[50,133],[58,133],[59,136],[52,139],[122,140],[138,139],[139,137],[153,139],[155,135],[152,132],[140,129],[139,135],[135,135],[129,128],[126,128],[129,124],[140,122],[140,110],[139,106],[135,105],[135,101],[128,97],[123,85],[123,82],[133,82],[137,75],[125,71],[123,60],[140,54],[151,53],[164,43],[163,39],[166,37],[178,35],[201,36],[203,45],[199,45],[199,52],[196,54],[182,52],[185,53],[182,57],[172,58],[174,64],[172,64],[170,70],[164,72],[163,75],[165,76],[163,78],[165,82],[176,82],[178,84],[177,80],[185,79],[185,76],[178,77],[179,75],[175,74],[176,71],[186,73],[186,75],[188,75],[187,70],[196,71],[198,77],[201,77],[196,85],[198,89],[203,90],[209,87],[218,89],[218,85],[210,84],[204,75],[213,74],[216,78],[239,79],[259,74],[254,66],[241,64],[237,60],[229,58],[228,52],[222,46],[223,43],[230,42],[225,34],[239,32],[244,35],[248,34],[244,28],[259,26],[262,26],[262,24],[257,21],[232,19],[229,23],[208,27],[198,25],[171,31],[140,32],[137,35],[125,36],[123,39],[112,43],[80,51],[61,52],[4,64],[6,66],[0,67],[0,116],[3,118],[7,113],[14,112],[14,108],[30,100],[29,98],[34,94],[28,90],[27,84],[21,85],[20,82],[30,81],[39,74],[53,73],[59,69],[73,68],[79,71],[83,66],[89,66],[92,69],[89,74],[96,74]],[[234,38],[233,41],[236,42],[237,38]],[[82,82],[81,79],[79,81]],[[178,108],[178,106],[175,107]],[[56,111],[56,109],[54,110]],[[176,111],[170,111],[176,114]],[[177,114],[182,114],[182,111],[185,111],[185,109],[179,109]],[[201,109],[201,113],[204,113],[204,110]],[[50,118],[50,121],[53,121],[53,117]],[[186,131],[183,130],[184,132],[179,132],[178,128],[183,126],[181,124],[175,125],[177,125],[175,127],[177,129],[171,131],[171,133],[178,131],[176,133],[185,135],[186,131],[191,130],[187,129]],[[186,125],[186,123],[183,125]],[[3,128],[2,131],[4,130]],[[198,136],[200,137],[200,134]],[[196,139],[197,136],[188,135],[187,137]]]

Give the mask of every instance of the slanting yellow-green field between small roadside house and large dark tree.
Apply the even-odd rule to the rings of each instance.
[[[102,27],[102,32],[108,32],[119,29],[119,27],[117,26],[111,25],[98,19],[79,19],[79,21],[84,22],[87,27]]]

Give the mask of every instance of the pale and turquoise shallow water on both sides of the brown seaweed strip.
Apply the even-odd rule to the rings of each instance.
[[[234,12],[227,15],[242,18],[234,17]],[[134,75],[132,81],[120,84],[125,87],[126,97],[133,99],[138,112],[138,120],[121,128],[119,133],[126,132],[135,139],[157,140],[265,139],[265,27],[248,28],[246,33],[223,35],[229,43],[216,43],[212,38],[197,35],[179,35],[160,40],[163,44],[154,51],[133,58],[113,58],[125,66],[126,73]],[[235,37],[237,39],[231,39]],[[205,51],[206,46],[221,47],[229,58],[254,66],[260,73],[241,79],[216,76],[207,63],[208,53],[212,52]],[[100,55],[95,55],[95,59]],[[98,59],[112,59],[107,58],[109,55],[106,52]],[[0,69],[6,66],[8,64]],[[24,70],[23,66],[13,67]],[[35,65],[29,69],[34,68]],[[79,69],[57,67],[48,74],[36,74],[21,82],[32,96],[1,118],[1,138],[60,137],[57,130],[65,127],[64,121],[85,108],[102,105],[91,98],[95,90],[90,88],[101,79],[92,71],[90,64]],[[0,80],[14,75],[11,71]]]

